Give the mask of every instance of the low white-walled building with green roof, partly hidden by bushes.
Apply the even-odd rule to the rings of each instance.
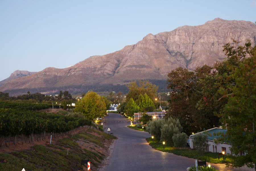
[[[214,140],[217,140],[220,138],[220,136],[216,135],[217,133],[225,134],[226,132],[227,132],[226,129],[221,129],[221,128],[215,127],[212,129],[208,129],[206,131],[192,134],[189,136],[190,148],[195,148],[195,144],[193,144],[193,139],[194,139],[195,135],[205,133],[207,135],[207,140],[208,140],[208,146],[205,147],[205,151],[210,151],[210,152],[224,151],[225,154],[228,154],[228,153],[232,154],[232,152],[230,151],[230,147],[232,146],[232,144],[226,143],[226,142],[221,142],[221,143],[215,142],[214,143]],[[244,153],[241,152],[240,155],[244,155]]]

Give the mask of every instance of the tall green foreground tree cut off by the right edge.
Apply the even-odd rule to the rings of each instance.
[[[227,97],[222,116],[227,124],[223,139],[232,144],[230,150],[235,154],[232,156],[234,167],[246,164],[256,170],[256,46],[229,78],[234,83],[228,86],[232,95]],[[240,152],[245,152],[245,156],[237,156]]]

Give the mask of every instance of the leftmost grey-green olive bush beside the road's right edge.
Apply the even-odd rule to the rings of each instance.
[[[161,128],[165,124],[164,119],[154,119],[148,121],[146,130],[154,136],[156,141],[160,141],[161,138]]]

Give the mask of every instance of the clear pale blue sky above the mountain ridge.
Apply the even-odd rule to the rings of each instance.
[[[0,0],[0,81],[15,70],[66,68],[135,44],[149,33],[220,17],[256,21],[256,0]]]

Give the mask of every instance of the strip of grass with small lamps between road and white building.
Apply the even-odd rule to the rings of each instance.
[[[189,148],[175,148],[173,146],[168,146],[168,145],[164,145],[163,148],[163,144],[159,143],[159,142],[152,142],[152,138],[149,137],[146,139],[149,143],[150,146],[152,146],[152,148],[155,148],[156,150],[159,151],[164,151],[164,152],[171,152],[173,154],[179,155],[179,156],[185,156],[188,158],[197,158],[199,160],[203,160],[203,161],[207,161],[209,163],[214,163],[214,164],[218,164],[218,163],[232,163],[232,159],[229,158],[228,156],[224,156],[224,162],[223,162],[223,158],[222,156],[220,156],[220,159],[218,159],[218,153],[214,153],[214,152],[200,152],[197,151],[195,149],[189,149]]]

